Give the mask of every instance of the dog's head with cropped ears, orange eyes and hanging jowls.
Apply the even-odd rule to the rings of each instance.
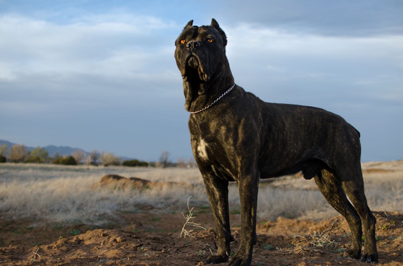
[[[226,62],[226,35],[213,18],[209,26],[189,21],[175,41],[175,59],[183,78],[185,108],[198,95],[207,93],[209,82],[222,75]]]

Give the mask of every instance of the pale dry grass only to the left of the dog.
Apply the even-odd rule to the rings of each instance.
[[[0,217],[37,217],[47,221],[100,223],[115,217],[114,212],[136,211],[144,205],[172,210],[186,204],[188,194],[207,202],[204,186],[192,191],[178,186],[152,190],[93,190],[102,176],[116,173],[152,181],[201,180],[196,169],[153,169],[128,167],[52,166],[4,164],[0,169]]]

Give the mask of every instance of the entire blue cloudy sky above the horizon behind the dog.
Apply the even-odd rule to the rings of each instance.
[[[341,115],[361,160],[403,159],[400,0],[0,0],[0,139],[192,157],[174,41],[215,18],[235,83]]]

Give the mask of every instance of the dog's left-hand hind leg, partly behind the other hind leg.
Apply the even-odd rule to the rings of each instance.
[[[341,182],[331,172],[324,169],[315,176],[315,182],[328,203],[347,220],[353,237],[352,247],[347,250],[347,254],[351,258],[359,259],[361,257],[361,219],[348,201]]]

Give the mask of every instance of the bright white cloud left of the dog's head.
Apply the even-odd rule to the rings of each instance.
[[[4,15],[0,25],[5,37],[0,67],[8,70],[0,78],[11,79],[23,73],[60,72],[130,77],[157,65],[150,59],[166,56],[166,43],[151,32],[170,24],[152,17],[101,15],[56,25]]]

